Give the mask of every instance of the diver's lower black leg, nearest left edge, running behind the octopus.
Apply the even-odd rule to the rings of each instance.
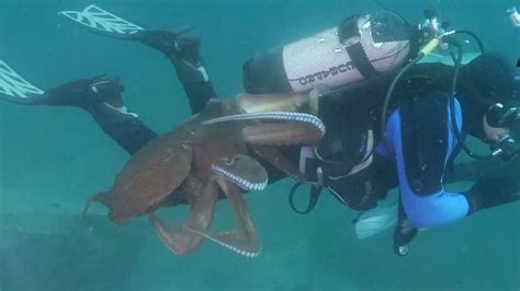
[[[128,154],[134,154],[157,133],[123,104],[117,78],[99,77],[68,82],[46,91],[43,104],[87,110],[103,131]]]

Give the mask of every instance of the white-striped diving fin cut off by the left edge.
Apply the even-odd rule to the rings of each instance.
[[[44,91],[27,82],[3,60],[0,60],[0,100],[35,105],[42,104]]]

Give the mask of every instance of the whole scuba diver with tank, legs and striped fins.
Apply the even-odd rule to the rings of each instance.
[[[189,32],[145,30],[95,5],[60,14],[99,33],[95,21],[100,20],[92,18],[100,13],[100,19],[117,19],[112,23],[120,25],[102,34],[142,43],[167,56],[193,114],[216,97],[199,55],[200,39]],[[430,20],[434,16],[426,14]],[[418,54],[417,35],[393,13],[371,13],[259,54],[244,66],[244,83],[250,93],[313,90],[312,94],[319,96],[314,114],[324,120],[328,133],[315,149],[286,149],[313,185],[309,208],[299,212],[312,210],[321,188],[350,208],[366,211],[398,187],[394,251],[399,255],[407,253],[420,228],[445,224],[520,198],[518,178],[500,176],[482,177],[465,193],[444,190],[446,168],[460,150],[466,149],[466,135],[493,144],[495,155],[517,155],[508,129],[516,120],[511,110],[518,103],[512,67],[502,56],[487,53],[460,70],[459,66],[407,62]],[[429,46],[433,49],[441,38],[431,38],[438,42]],[[346,49],[337,49],[342,47]],[[428,53],[422,49],[419,55]],[[462,54],[457,56],[462,58]],[[117,78],[78,80],[44,92],[7,63],[0,62],[0,67],[3,80],[10,80],[0,86],[7,101],[83,108],[128,154],[157,137],[124,106]],[[171,197],[173,203],[180,202]]]

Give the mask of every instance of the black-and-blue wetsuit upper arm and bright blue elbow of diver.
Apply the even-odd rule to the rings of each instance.
[[[448,97],[429,96],[410,103],[394,112],[387,125],[405,213],[415,228],[459,220],[468,213],[467,199],[443,186],[446,162],[456,146]],[[459,103],[455,110],[460,127]]]

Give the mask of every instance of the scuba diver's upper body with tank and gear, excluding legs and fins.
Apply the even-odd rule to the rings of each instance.
[[[518,20],[518,13],[516,15]],[[386,209],[395,211],[398,208],[398,225],[394,231],[394,252],[398,255],[408,253],[408,243],[418,229],[442,225],[520,199],[518,177],[505,177],[500,171],[478,178],[467,191],[444,189],[450,179],[448,170],[461,150],[476,159],[500,155],[502,160],[511,160],[518,155],[519,147],[509,128],[519,119],[515,106],[520,102],[520,82],[511,62],[501,55],[484,53],[482,42],[473,33],[462,30],[446,32],[449,24],[439,23],[434,10],[425,10],[425,18],[419,31],[411,32],[411,35],[398,20],[378,18],[376,13],[371,15],[370,34],[363,34],[368,26],[363,18],[347,19],[339,25],[337,38],[359,71],[353,73],[353,78],[364,78],[365,82],[359,81],[347,89],[324,90],[321,94],[326,97],[320,98],[317,116],[326,124],[327,135],[310,154],[302,152],[301,158],[306,159],[299,160],[304,161],[299,163],[301,168],[309,174],[313,185],[308,208],[295,209],[299,213],[313,209],[320,188],[327,188],[352,209],[370,212],[389,189],[398,187],[398,207]],[[518,21],[516,25],[518,28]],[[460,43],[453,38],[456,34],[475,37],[483,51],[462,68],[464,55]],[[396,75],[385,75],[382,67],[389,67],[388,62],[396,61],[392,58],[396,56],[395,51],[397,55],[403,51],[399,47],[393,53],[385,51],[385,46],[405,39],[414,43],[417,36],[426,37],[423,48],[418,54],[411,48],[408,56],[414,60]],[[252,89],[255,93],[291,92],[310,82],[327,83],[326,70],[316,69],[319,65],[313,62],[313,59],[318,59],[330,66],[329,59],[320,59],[323,51],[312,57],[301,53],[305,58],[294,56],[296,53],[292,51],[292,47],[301,51],[302,44],[306,44],[310,47],[306,53],[316,54],[315,47],[308,43],[320,37],[323,34],[290,44],[281,49],[282,53],[271,50],[257,55],[245,65],[246,89]],[[373,46],[366,45],[371,37]],[[332,42],[325,39],[324,43]],[[378,58],[371,58],[374,47],[378,49]],[[450,50],[455,66],[440,62],[416,65],[433,48]],[[303,69],[298,65],[290,63],[291,57],[310,59],[306,62],[307,70],[318,73],[301,73]],[[280,59],[283,59],[283,66],[280,66]],[[280,67],[282,69],[278,69],[276,74]],[[304,77],[294,78],[294,71]],[[294,84],[295,81],[298,83]],[[328,85],[334,88],[335,81],[328,81]],[[364,135],[360,133],[363,129]],[[380,130],[378,143],[370,141],[372,130]],[[490,144],[493,153],[473,152],[465,146],[466,135]],[[352,140],[358,141],[352,144]],[[305,162],[312,166],[307,168]],[[290,199],[297,187],[298,184],[291,191]],[[363,217],[368,213],[361,212],[354,219],[357,231],[360,226],[358,236],[372,235],[380,228],[393,224],[384,211],[375,209],[372,218]],[[376,230],[371,229],[374,226]]]

